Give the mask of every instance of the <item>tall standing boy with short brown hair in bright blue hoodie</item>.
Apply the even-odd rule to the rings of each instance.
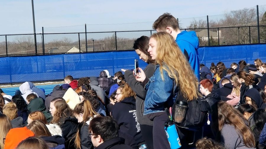
[[[176,40],[177,45],[189,61],[198,80],[200,80],[199,39],[194,31],[179,29],[178,21],[170,13],[164,13],[153,23],[157,32],[167,32]]]

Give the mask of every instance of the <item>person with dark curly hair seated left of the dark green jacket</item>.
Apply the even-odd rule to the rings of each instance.
[[[14,102],[17,105],[17,114],[19,117],[23,118],[24,123],[27,121],[29,110],[27,108],[27,103],[24,100],[24,98],[21,95],[14,95],[12,97],[12,102]]]

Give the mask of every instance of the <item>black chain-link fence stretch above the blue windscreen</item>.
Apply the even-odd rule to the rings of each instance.
[[[265,43],[266,26],[259,26],[259,28],[260,43]],[[181,30],[195,31],[200,46],[258,43],[257,26]],[[36,49],[34,34],[0,35],[0,56],[132,50],[134,40],[141,36],[149,37],[153,33],[156,31],[36,34]]]

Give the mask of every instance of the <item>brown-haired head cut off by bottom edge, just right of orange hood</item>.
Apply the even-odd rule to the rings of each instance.
[[[38,138],[38,137],[29,137],[23,141],[21,141],[16,149],[49,149],[48,145],[44,142],[44,140]]]

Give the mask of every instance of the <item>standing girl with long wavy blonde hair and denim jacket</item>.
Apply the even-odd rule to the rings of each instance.
[[[175,90],[180,91],[187,101],[200,97],[199,82],[170,34],[166,32],[153,34],[150,37],[148,52],[158,65],[149,80],[141,68],[136,76],[136,80],[142,82],[147,90],[144,115],[153,120],[153,147],[170,148],[164,130],[164,122],[169,119],[165,108],[173,105]]]

